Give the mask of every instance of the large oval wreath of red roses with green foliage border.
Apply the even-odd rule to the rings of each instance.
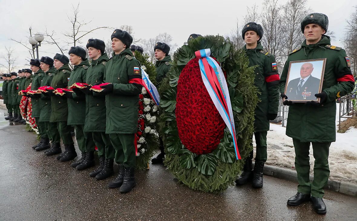
[[[232,135],[203,84],[195,51],[210,49],[228,85],[241,160],[236,160]],[[170,72],[159,88],[160,127],[165,143],[165,165],[194,190],[227,189],[242,170],[251,151],[254,109],[258,102],[254,67],[242,50],[222,36],[190,40],[174,54]]]

